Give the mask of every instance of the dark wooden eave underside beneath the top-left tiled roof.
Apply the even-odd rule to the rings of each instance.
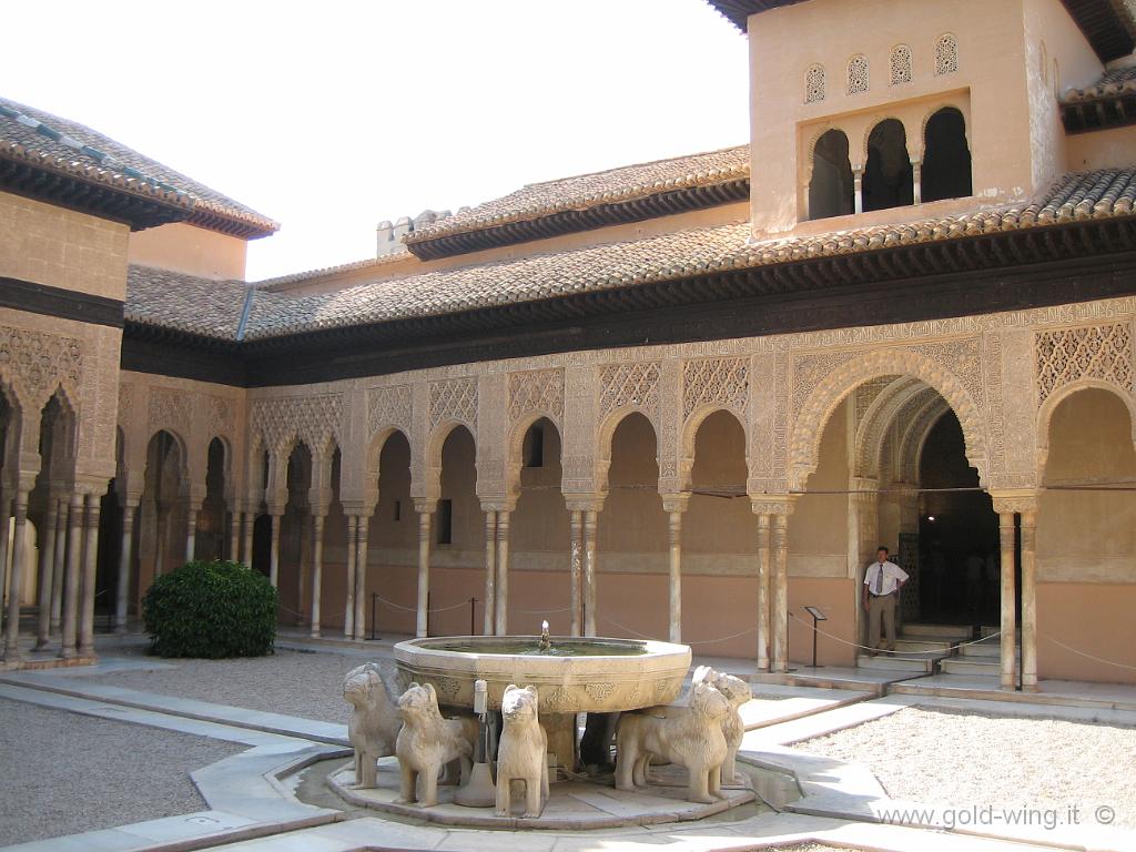
[[[120,222],[132,231],[184,222],[191,208],[185,195],[135,192],[105,181],[87,181],[77,174],[8,157],[3,150],[0,150],[0,190]]]

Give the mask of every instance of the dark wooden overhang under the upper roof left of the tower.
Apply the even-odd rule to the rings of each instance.
[[[434,260],[502,245],[515,245],[531,240],[544,240],[611,225],[644,222],[659,216],[702,210],[719,204],[745,201],[749,197],[750,179],[745,177],[709,186],[690,186],[576,210],[559,210],[532,219],[454,234],[440,234],[434,237],[427,236],[416,240],[414,232],[411,232],[406,237],[406,244],[407,249],[421,260]]]

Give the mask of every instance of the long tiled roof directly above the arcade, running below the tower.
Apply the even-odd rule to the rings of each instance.
[[[257,291],[244,339],[442,316],[811,258],[1131,216],[1134,206],[1136,167],[1066,175],[1033,203],[961,216],[760,243],[750,242],[750,226],[743,223],[424,273],[320,295],[289,298]],[[233,317],[240,312],[235,302],[241,302],[241,296],[227,285],[214,296],[207,292],[212,282],[191,282],[184,294],[172,296],[164,292],[170,283],[176,284],[154,286],[147,282],[128,287],[127,319],[141,317],[139,321],[209,336],[216,336],[215,327],[236,327]],[[201,317],[206,312],[202,304],[212,298],[234,302],[226,303],[225,319],[219,323]],[[208,331],[199,331],[202,326]]]

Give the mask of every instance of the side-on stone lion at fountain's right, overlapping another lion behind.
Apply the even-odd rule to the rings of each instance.
[[[721,799],[721,720],[728,712],[729,701],[713,684],[695,680],[685,705],[624,713],[616,727],[616,787],[645,786],[651,758],[658,755],[686,767],[690,801],[710,804]]]

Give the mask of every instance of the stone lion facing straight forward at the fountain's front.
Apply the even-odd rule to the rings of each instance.
[[[536,718],[536,687],[509,684],[501,699],[504,721],[498,745],[496,816],[508,817],[512,782],[525,784],[526,818],[541,816],[549,797],[549,737]]]

